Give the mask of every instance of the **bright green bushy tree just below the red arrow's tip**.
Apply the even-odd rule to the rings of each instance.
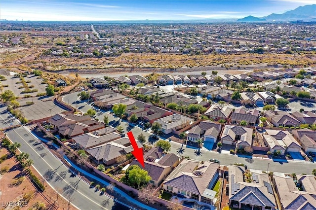
[[[141,169],[137,165],[132,165],[128,167],[121,181],[132,187],[137,186],[137,188],[140,189],[142,185],[147,184],[151,179],[152,178],[148,175],[147,171]]]

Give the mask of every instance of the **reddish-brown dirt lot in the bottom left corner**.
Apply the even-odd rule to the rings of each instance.
[[[8,154],[7,150],[5,148],[0,147],[0,156],[4,154]],[[27,210],[38,201],[43,202],[46,205],[46,208],[49,208],[52,205],[52,203],[54,203],[57,200],[56,192],[49,185],[47,185],[47,183],[44,183],[45,191],[41,194],[37,192],[37,190],[32,185],[32,183],[25,176],[20,185],[11,186],[13,178],[21,176],[20,168],[16,166],[13,157],[6,159],[3,163],[1,163],[1,169],[3,169],[4,167],[7,167],[9,171],[7,173],[4,173],[3,175],[0,175],[0,180],[1,180],[0,181],[1,182],[0,203],[1,204],[4,205],[5,202],[10,202],[10,201],[12,202],[21,201],[21,199],[23,199],[23,196],[24,198],[26,198],[27,195],[29,195],[31,196],[30,201],[27,203],[27,205],[20,208],[20,210]],[[40,175],[37,173],[37,171],[33,167],[31,167],[31,171],[36,176],[40,177]],[[51,199],[51,203],[47,202],[44,199],[44,197]],[[57,207],[59,206],[58,209],[65,209],[65,210],[68,209],[68,202],[60,196],[58,196],[58,200],[55,202],[55,205]],[[11,210],[11,209],[13,208],[10,208],[10,207],[5,208],[5,210]],[[51,210],[54,210],[54,208],[51,208]],[[76,209],[73,206],[70,206],[70,210],[76,210]]]

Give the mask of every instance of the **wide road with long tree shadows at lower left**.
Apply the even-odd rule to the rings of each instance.
[[[51,154],[46,147],[37,143],[34,137],[24,128],[16,128],[7,132],[14,142],[21,143],[20,150],[30,154],[34,167],[51,184],[54,189],[60,189],[62,195],[79,209],[83,210],[113,210],[126,209],[108,196],[95,191],[89,185],[74,176],[63,163]],[[51,195],[52,198],[56,195]]]

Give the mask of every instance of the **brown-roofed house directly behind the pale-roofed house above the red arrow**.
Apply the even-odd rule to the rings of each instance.
[[[132,114],[136,114],[138,120],[153,124],[155,120],[170,116],[173,113],[158,106],[136,101],[134,104],[126,106],[126,117],[129,118]]]

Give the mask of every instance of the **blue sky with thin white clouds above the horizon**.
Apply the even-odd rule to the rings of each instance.
[[[262,17],[316,0],[0,0],[0,19],[188,20]]]

